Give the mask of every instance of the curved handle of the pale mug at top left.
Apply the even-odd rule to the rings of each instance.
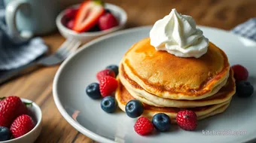
[[[32,38],[32,32],[19,32],[17,29],[17,11],[20,10],[20,8],[28,8],[29,9],[30,4],[25,1],[11,1],[5,11],[5,21],[7,23],[8,29],[9,29],[9,35],[11,35],[12,38],[18,38],[19,40],[28,40],[29,38]]]

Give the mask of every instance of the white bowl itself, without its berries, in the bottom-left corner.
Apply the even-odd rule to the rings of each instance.
[[[21,99],[23,102],[32,102],[28,99]],[[0,143],[32,143],[38,138],[41,132],[41,109],[38,105],[35,104],[35,102],[32,103],[32,106],[28,106],[28,109],[30,111],[30,116],[35,121],[35,127],[30,132],[26,133],[23,136],[20,136],[19,138],[14,138],[8,141],[0,141]]]

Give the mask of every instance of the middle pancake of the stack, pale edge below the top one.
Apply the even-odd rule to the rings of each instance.
[[[157,107],[178,107],[178,108],[190,108],[190,107],[200,107],[206,105],[215,105],[222,102],[227,102],[232,98],[236,92],[236,84],[233,78],[233,71],[230,70],[230,77],[227,80],[227,84],[215,93],[215,95],[207,97],[206,99],[199,100],[175,100],[175,99],[163,99],[158,96],[155,96],[147,91],[143,90],[139,84],[136,84],[135,81],[131,80],[128,75],[123,71],[123,66],[120,65],[120,74],[119,78],[121,83],[126,90],[133,96],[135,99],[145,102],[148,105],[154,105]]]

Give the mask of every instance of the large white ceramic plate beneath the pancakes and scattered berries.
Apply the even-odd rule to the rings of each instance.
[[[200,27],[207,38],[221,47],[230,64],[248,68],[248,81],[256,89],[256,43],[221,29]],[[170,132],[140,136],[133,131],[135,119],[122,111],[107,114],[100,100],[90,99],[85,88],[96,82],[96,72],[120,62],[132,44],[148,37],[151,27],[140,27],[106,35],[84,45],[59,68],[53,83],[53,96],[62,116],[79,132],[99,142],[244,142],[256,137],[256,93],[248,99],[233,98],[223,114],[201,120],[196,131],[172,126]],[[206,135],[220,132],[221,135]],[[223,135],[225,134],[225,135]],[[231,135],[232,134],[232,135]],[[244,135],[234,135],[244,134]]]

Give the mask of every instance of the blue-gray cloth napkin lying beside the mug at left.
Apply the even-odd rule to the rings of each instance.
[[[18,43],[8,36],[5,23],[5,9],[0,0],[0,71],[19,68],[47,52],[47,45],[41,38]]]

